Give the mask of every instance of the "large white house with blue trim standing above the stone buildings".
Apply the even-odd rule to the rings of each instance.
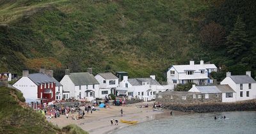
[[[190,61],[186,65],[173,65],[167,71],[167,82],[174,85],[188,82],[198,85],[212,84],[213,80],[209,78],[212,71],[217,71],[217,67],[214,64],[204,64],[204,61],[200,61],[200,64]]]

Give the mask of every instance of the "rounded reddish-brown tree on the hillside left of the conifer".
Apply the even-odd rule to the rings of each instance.
[[[205,45],[217,49],[225,42],[225,30],[220,24],[211,22],[200,31],[200,38]]]

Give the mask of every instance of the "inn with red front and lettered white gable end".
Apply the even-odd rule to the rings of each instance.
[[[42,100],[42,102],[56,100],[56,81],[53,77],[42,73],[42,70],[40,72],[29,74],[28,70],[22,71],[22,77],[13,84],[13,87],[19,89],[26,100]]]

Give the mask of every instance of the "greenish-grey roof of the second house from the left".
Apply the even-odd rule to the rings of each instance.
[[[88,73],[70,73],[70,79],[76,86],[99,84],[96,78]]]

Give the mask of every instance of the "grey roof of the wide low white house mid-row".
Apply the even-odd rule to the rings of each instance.
[[[128,78],[128,82],[132,86],[141,86],[142,82],[150,82],[150,85],[160,85],[159,82],[153,78]]]

